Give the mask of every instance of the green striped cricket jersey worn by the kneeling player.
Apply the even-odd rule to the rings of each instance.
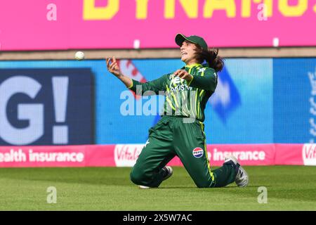
[[[204,122],[204,109],[216,89],[218,75],[213,68],[198,63],[186,65],[181,70],[186,70],[193,79],[187,82],[169,73],[146,83],[132,79],[129,89],[142,96],[166,96],[163,115],[191,117]]]

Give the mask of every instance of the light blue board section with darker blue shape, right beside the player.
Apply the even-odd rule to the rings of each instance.
[[[209,143],[272,143],[272,59],[228,59],[206,108]],[[223,76],[225,75],[225,76]],[[216,110],[218,104],[225,105]],[[225,120],[224,120],[225,118]]]

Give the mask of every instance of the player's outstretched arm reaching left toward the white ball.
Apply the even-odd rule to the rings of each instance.
[[[154,79],[151,82],[140,83],[135,79],[123,75],[114,57],[112,58],[112,63],[110,63],[110,60],[110,58],[107,58],[107,70],[119,78],[128,89],[134,91],[137,95],[144,95],[146,92],[145,95],[148,96],[159,94],[159,91],[165,91],[167,75]]]

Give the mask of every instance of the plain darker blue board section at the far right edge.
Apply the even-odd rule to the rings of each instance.
[[[273,61],[275,143],[314,143],[316,137],[316,59]]]

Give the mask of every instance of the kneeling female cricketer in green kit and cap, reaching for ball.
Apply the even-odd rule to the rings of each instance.
[[[131,170],[131,181],[140,188],[157,188],[173,170],[166,164],[175,156],[199,188],[223,187],[235,181],[244,187],[249,176],[234,156],[211,170],[206,152],[204,109],[223,69],[218,49],[209,50],[202,37],[176,35],[185,66],[151,82],[140,83],[121,73],[114,57],[107,58],[107,70],[138,95],[164,94],[162,119],[149,129],[149,139]]]

